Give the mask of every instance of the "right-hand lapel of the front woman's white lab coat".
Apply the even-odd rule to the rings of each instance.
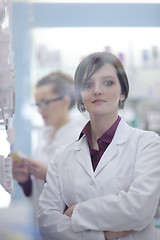
[[[103,153],[100,162],[98,163],[98,166],[95,170],[95,176],[102,170],[102,168],[104,168],[111,160],[116,157],[118,148],[127,142],[127,139],[130,136],[130,131],[131,127],[123,119],[121,119],[112,142]]]

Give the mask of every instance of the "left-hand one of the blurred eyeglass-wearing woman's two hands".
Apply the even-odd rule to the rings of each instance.
[[[19,183],[24,183],[29,179],[29,170],[25,163],[25,159],[19,162],[12,161],[12,174]]]

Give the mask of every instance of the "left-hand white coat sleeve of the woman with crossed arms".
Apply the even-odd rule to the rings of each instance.
[[[38,221],[45,240],[104,240],[103,231],[73,232],[71,218],[63,214],[65,204],[61,197],[58,176],[58,159],[50,162],[47,182],[39,199]]]

